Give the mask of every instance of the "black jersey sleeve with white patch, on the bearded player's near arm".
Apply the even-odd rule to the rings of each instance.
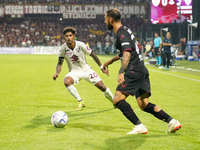
[[[120,40],[119,40],[119,42],[120,42],[119,44],[121,45],[121,52],[122,53],[124,53],[125,51],[132,51],[130,41],[131,41],[130,36],[121,35]]]

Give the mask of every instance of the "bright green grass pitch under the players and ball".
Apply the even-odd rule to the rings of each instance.
[[[112,57],[99,56],[102,63]],[[87,62],[114,94],[120,61],[109,66],[110,77],[101,72],[91,57],[87,57]],[[199,62],[178,63],[200,69]],[[163,71],[147,65],[150,101],[178,119],[182,129],[167,134],[167,123],[142,112],[135,97],[128,97],[149,133],[126,135],[133,125],[86,81],[76,86],[86,107],[75,111],[77,102],[63,84],[67,65],[63,64],[59,78],[53,81],[56,64],[56,55],[0,55],[1,150],[200,149],[200,73],[176,68]],[[51,125],[51,115],[59,110],[69,117],[64,128]]]

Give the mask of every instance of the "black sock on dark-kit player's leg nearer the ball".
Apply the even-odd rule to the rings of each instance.
[[[133,112],[133,109],[125,100],[120,100],[115,105],[117,106],[117,108],[119,108],[122,111],[124,116],[126,116],[126,118],[130,120],[134,125],[141,124],[140,120],[138,119],[136,114]]]

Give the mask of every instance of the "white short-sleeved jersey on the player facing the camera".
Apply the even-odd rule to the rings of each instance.
[[[85,54],[90,55],[92,50],[84,43],[75,41],[74,49],[70,49],[66,43],[61,46],[58,56],[63,57],[68,65],[69,71],[91,68],[85,58]]]

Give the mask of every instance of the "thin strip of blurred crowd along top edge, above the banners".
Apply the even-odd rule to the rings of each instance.
[[[0,0],[0,4],[135,4],[148,0]]]

